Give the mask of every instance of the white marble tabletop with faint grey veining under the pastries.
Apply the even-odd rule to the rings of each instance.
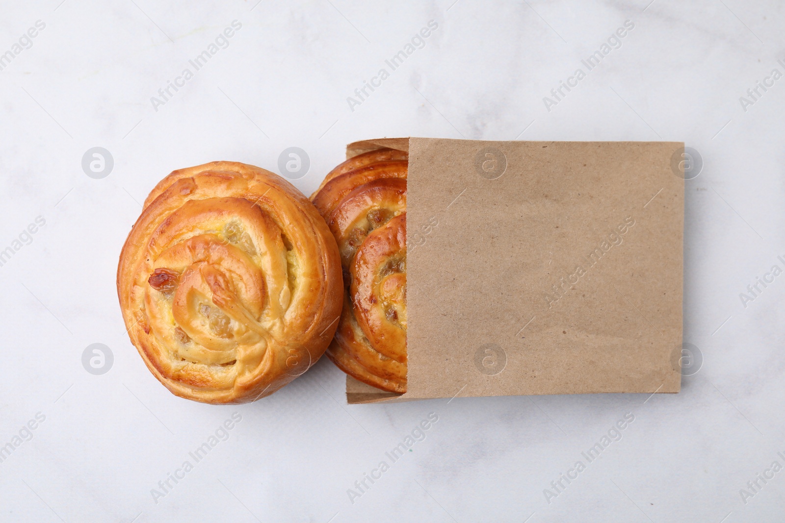
[[[2,2],[0,520],[782,521],[785,276],[739,297],[785,268],[782,3],[256,1]],[[301,147],[309,193],[345,143],[409,135],[696,148],[685,342],[703,365],[681,394],[348,406],[324,359],[238,407],[155,381],[115,293],[155,182],[217,159],[276,169]],[[108,176],[82,169],[92,147]],[[113,355],[103,375],[82,365],[92,343]],[[431,412],[425,440],[350,496]],[[226,441],[190,457],[232,416]],[[621,439],[583,459],[624,416]]]

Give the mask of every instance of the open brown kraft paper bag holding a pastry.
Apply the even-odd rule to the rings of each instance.
[[[410,154],[408,384],[347,376],[349,404],[679,391],[684,143],[393,138],[347,157],[380,147]]]

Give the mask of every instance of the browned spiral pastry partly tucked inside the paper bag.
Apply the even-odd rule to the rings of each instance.
[[[406,392],[406,177],[408,154],[350,158],[312,195],[338,242],[344,306],[327,357],[369,385]]]

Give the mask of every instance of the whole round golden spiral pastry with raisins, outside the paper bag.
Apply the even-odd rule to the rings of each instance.
[[[286,180],[212,162],[174,171],[150,193],[117,289],[132,343],[173,394],[243,403],[327,348],[341,313],[340,256]]]

